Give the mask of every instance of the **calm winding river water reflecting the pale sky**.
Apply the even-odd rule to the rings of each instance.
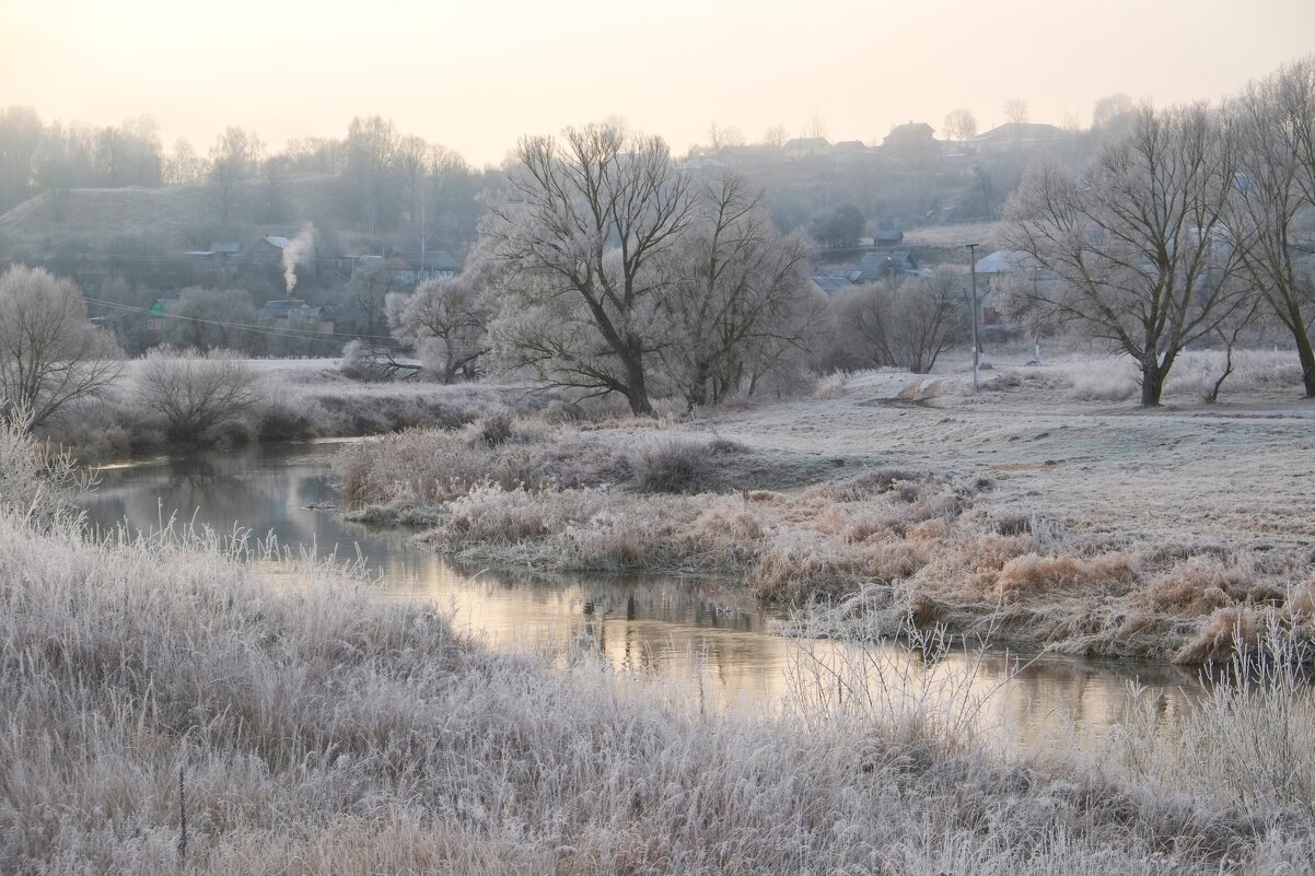
[[[692,701],[763,704],[807,689],[825,700],[849,691],[852,702],[864,687],[878,692],[876,698],[935,702],[993,693],[978,723],[1027,741],[1063,733],[1070,722],[1084,730],[1119,722],[1134,677],[1162,694],[1170,718],[1186,696],[1180,685],[1198,687],[1194,673],[1162,666],[1045,656],[1007,679],[1013,662],[1002,655],[977,660],[952,652],[923,666],[902,648],[800,643],[772,635],[775,616],[752,600],[681,577],[567,580],[531,570],[458,570],[406,534],[313,508],[337,501],[333,452],[333,443],[271,446],[104,470],[84,504],[101,530],[122,523],[153,530],[176,517],[225,534],[272,534],[292,550],[314,547],[347,560],[359,552],[383,575],[385,597],[431,600],[493,647],[534,647],[559,659],[596,651],[614,667],[669,679],[672,696]],[[855,688],[846,673],[872,684]]]

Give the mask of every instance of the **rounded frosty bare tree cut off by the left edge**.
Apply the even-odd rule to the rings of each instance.
[[[70,402],[103,395],[122,353],[87,320],[72,283],[16,264],[0,275],[0,413],[25,410],[32,427]]]

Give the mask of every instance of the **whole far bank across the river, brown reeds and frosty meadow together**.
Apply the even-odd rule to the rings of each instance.
[[[686,421],[406,433],[337,471],[354,514],[462,560],[723,575],[811,634],[940,625],[1180,663],[1272,622],[1308,635],[1315,408],[1064,391],[1095,377],[1002,370],[974,396],[965,375],[868,374]]]

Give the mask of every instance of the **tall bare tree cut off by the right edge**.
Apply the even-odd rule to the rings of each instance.
[[[1315,397],[1315,55],[1249,85],[1232,117],[1241,160],[1230,222],[1252,241],[1245,274],[1293,335]]]

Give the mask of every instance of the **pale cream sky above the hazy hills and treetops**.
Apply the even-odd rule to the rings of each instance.
[[[1105,95],[1218,99],[1312,51],[1315,0],[0,0],[0,107],[150,114],[203,154],[226,125],[277,149],[377,113],[484,164],[609,116],[677,153],[714,120],[880,142],[967,107],[986,130],[1011,97],[1086,125]]]

